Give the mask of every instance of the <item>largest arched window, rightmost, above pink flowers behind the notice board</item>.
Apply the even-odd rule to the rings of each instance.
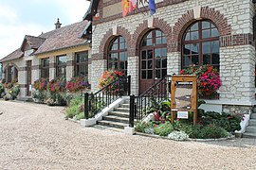
[[[193,23],[182,39],[182,69],[210,64],[219,69],[219,31],[210,21]]]

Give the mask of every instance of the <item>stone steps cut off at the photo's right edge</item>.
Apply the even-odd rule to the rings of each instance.
[[[256,138],[256,111],[255,108],[253,113],[250,114],[250,119],[248,122],[247,130],[243,134],[244,138]]]

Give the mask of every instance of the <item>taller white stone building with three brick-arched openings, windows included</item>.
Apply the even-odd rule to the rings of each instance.
[[[84,20],[92,22],[92,90],[103,71],[132,76],[132,93],[155,79],[179,74],[191,64],[219,69],[222,86],[209,107],[248,112],[255,105],[255,43],[252,0],[155,0],[122,16],[121,1],[91,0]],[[87,28],[84,31],[89,32]]]

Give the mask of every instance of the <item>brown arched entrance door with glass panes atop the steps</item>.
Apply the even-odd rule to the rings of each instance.
[[[143,93],[167,75],[167,44],[162,31],[155,29],[144,36],[139,60],[139,93]]]

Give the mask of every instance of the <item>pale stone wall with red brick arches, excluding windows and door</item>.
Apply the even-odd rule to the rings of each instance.
[[[250,0],[199,1],[199,18],[195,18],[195,0],[163,1],[157,3],[156,7],[153,17],[142,13],[144,10],[140,8],[140,12],[135,10],[126,17],[115,15],[93,21],[92,60],[97,60],[97,63],[92,62],[91,68],[100,69],[102,72],[106,69],[106,47],[116,36],[112,28],[121,28],[123,32],[119,31],[118,35],[123,36],[129,46],[128,74],[136,82],[132,91],[137,93],[139,44],[143,35],[153,28],[159,28],[165,33],[168,75],[178,74],[181,68],[180,43],[184,32],[193,22],[210,20],[220,34],[220,76],[223,81],[219,92],[220,103],[229,103],[226,106],[232,106],[232,103],[248,106],[255,104],[255,48],[252,36],[252,18],[255,11]],[[99,6],[100,16],[101,8],[102,4]],[[101,73],[91,73],[92,86],[97,87]]]

